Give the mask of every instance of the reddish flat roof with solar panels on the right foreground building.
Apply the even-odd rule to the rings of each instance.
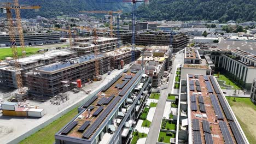
[[[214,76],[190,74],[187,86],[194,143],[247,143]]]

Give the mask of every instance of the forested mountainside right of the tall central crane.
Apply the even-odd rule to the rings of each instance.
[[[149,0],[137,17],[146,20],[256,21],[255,0]]]

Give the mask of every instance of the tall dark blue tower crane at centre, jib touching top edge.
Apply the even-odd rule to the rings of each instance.
[[[132,62],[135,61],[135,22],[136,22],[136,3],[138,2],[145,2],[146,4],[149,3],[149,0],[96,0],[98,3],[132,3]]]

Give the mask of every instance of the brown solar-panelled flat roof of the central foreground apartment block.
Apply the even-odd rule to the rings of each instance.
[[[137,79],[139,79],[139,75],[141,75],[141,71],[128,70],[115,77],[111,82],[103,87],[101,92],[93,95],[92,98],[82,105],[86,110],[80,113],[79,116],[75,117],[73,121],[66,126],[66,128],[70,127],[73,122],[77,124],[66,134],[63,134],[63,131],[65,131],[66,128],[63,129],[60,134],[90,140],[91,137],[96,134],[98,128],[101,127],[101,124],[109,120],[107,119],[109,113],[111,113],[114,107],[125,98],[123,97],[124,94],[126,94],[127,90]],[[123,91],[125,91],[125,93],[123,93]],[[86,127],[84,130],[81,130],[82,125],[85,123]]]

